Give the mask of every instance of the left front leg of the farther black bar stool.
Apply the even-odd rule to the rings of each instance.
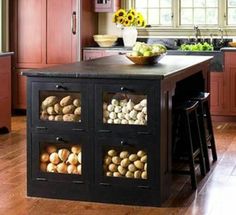
[[[206,171],[210,171],[210,161],[209,161],[209,155],[208,155],[208,144],[206,140],[206,130],[204,125],[204,109],[202,104],[198,107],[198,122],[199,122],[199,129],[201,134],[201,140],[202,140],[202,150],[205,157],[205,167]]]

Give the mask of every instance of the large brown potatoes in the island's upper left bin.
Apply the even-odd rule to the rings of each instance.
[[[80,122],[80,99],[72,96],[48,96],[41,103],[41,120]]]

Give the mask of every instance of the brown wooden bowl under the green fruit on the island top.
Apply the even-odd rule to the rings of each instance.
[[[133,63],[138,65],[153,65],[158,63],[165,54],[152,55],[152,56],[132,56],[127,54],[126,57],[131,60]]]

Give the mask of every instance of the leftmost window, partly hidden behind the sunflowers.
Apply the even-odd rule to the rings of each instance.
[[[135,0],[134,5],[149,25],[172,25],[172,0]]]

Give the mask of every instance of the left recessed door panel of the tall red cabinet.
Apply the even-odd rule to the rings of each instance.
[[[30,68],[45,64],[46,0],[20,0],[16,4],[16,66]]]

